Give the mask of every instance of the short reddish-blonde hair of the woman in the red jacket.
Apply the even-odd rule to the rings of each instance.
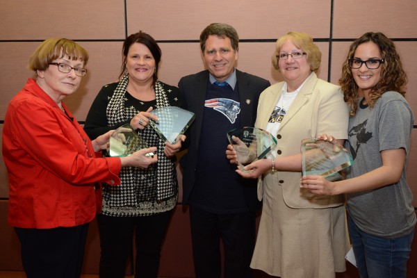
[[[67,55],[71,60],[81,60],[84,66],[88,62],[88,52],[73,40],[65,38],[50,38],[44,40],[42,44],[33,52],[29,58],[28,69],[47,70],[49,63],[57,58]]]

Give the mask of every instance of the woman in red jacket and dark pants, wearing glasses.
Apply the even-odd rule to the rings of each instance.
[[[72,40],[45,40],[29,59],[37,79],[28,79],[6,112],[8,222],[28,277],[80,277],[88,223],[97,212],[95,183],[117,185],[121,167],[157,161],[145,156],[156,147],[122,158],[96,156],[112,131],[90,141],[63,104],[87,73],[87,61],[87,51]]]

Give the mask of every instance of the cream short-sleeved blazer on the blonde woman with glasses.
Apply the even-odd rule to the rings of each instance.
[[[255,126],[265,129],[279,97],[284,82],[271,85],[259,98]],[[318,79],[312,72],[295,97],[279,126],[277,134],[277,159],[300,153],[301,140],[316,138],[322,133],[338,139],[347,138],[349,111],[340,87]],[[270,171],[258,181],[258,199],[263,197],[263,179],[272,179]],[[316,196],[300,190],[301,172],[275,172],[277,186],[282,186],[284,201],[291,208],[325,208],[343,204],[343,195]]]

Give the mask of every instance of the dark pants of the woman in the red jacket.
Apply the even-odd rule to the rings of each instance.
[[[28,278],[79,278],[88,223],[55,229],[15,228]]]

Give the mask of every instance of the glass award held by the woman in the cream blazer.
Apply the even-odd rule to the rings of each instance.
[[[227,139],[236,151],[238,167],[243,172],[247,172],[243,169],[245,165],[264,158],[277,145],[271,133],[249,126],[229,131]]]

